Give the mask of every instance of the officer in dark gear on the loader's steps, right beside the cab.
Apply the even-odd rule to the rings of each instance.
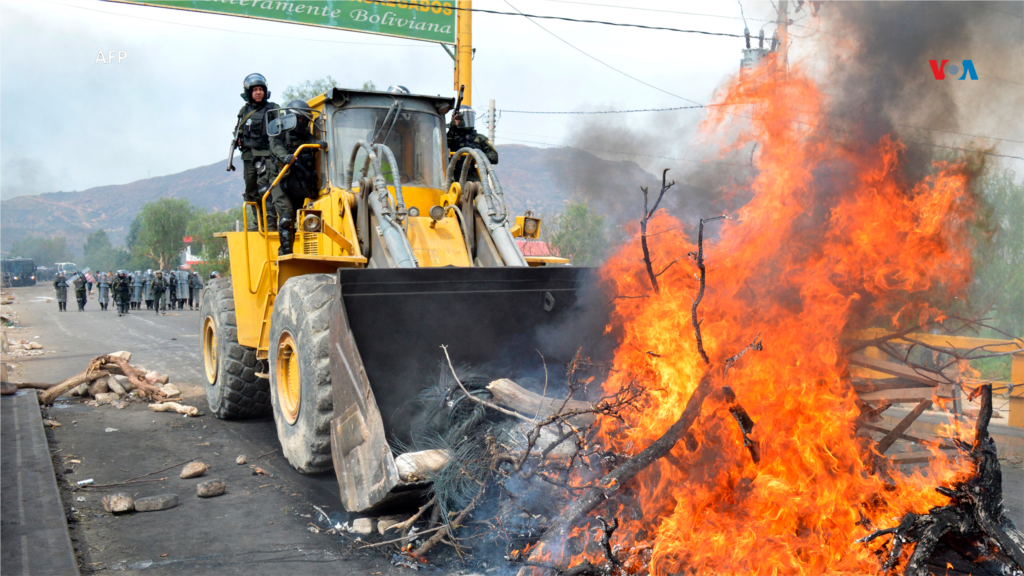
[[[319,145],[322,149],[327,148],[327,142],[317,140],[309,131],[309,124],[313,119],[313,110],[303,100],[292,100],[286,107],[287,114],[296,116],[296,125],[290,130],[285,130],[276,136],[270,136],[270,155],[279,163],[274,171],[284,169],[285,165],[291,165],[288,173],[278,182],[278,186],[270,191],[273,198],[273,207],[281,217],[279,223],[281,247],[278,248],[278,255],[292,253],[292,245],[295,241],[295,209],[301,208],[307,198],[316,198],[318,190],[316,180],[316,159],[313,151],[306,149],[295,156],[295,151],[302,145]]]

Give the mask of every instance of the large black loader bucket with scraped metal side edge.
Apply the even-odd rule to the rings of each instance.
[[[565,324],[589,269],[431,268],[338,271],[332,315],[331,425],[342,502],[364,511],[400,486],[391,441],[410,443],[416,397],[455,366],[542,365],[553,379],[577,349]]]

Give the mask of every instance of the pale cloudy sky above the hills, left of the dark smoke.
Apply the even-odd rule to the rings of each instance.
[[[474,3],[502,11],[513,6],[527,13],[743,31],[734,1]],[[768,0],[743,0],[755,34],[765,26],[771,35],[774,13]],[[478,115],[490,98],[509,111],[690,104],[677,96],[707,101],[738,69],[742,48],[738,38],[538,22],[586,54],[675,95],[610,70],[524,17],[477,13]],[[112,50],[125,55],[96,61],[99,52],[105,59]],[[454,95],[453,61],[437,44],[99,0],[0,0],[0,167],[6,174],[0,199],[125,183],[226,159],[244,104],[242,80],[252,72],[267,77],[278,100],[286,87],[328,75],[350,87],[369,80],[379,88],[401,84],[414,93]],[[664,114],[683,124],[699,119],[694,112]],[[564,145],[581,121],[503,113],[496,139]]]

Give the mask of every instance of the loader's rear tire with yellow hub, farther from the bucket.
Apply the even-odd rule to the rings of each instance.
[[[200,318],[210,411],[223,419],[269,413],[270,384],[256,375],[261,368],[256,349],[239,343],[230,278],[211,280],[203,289]]]

